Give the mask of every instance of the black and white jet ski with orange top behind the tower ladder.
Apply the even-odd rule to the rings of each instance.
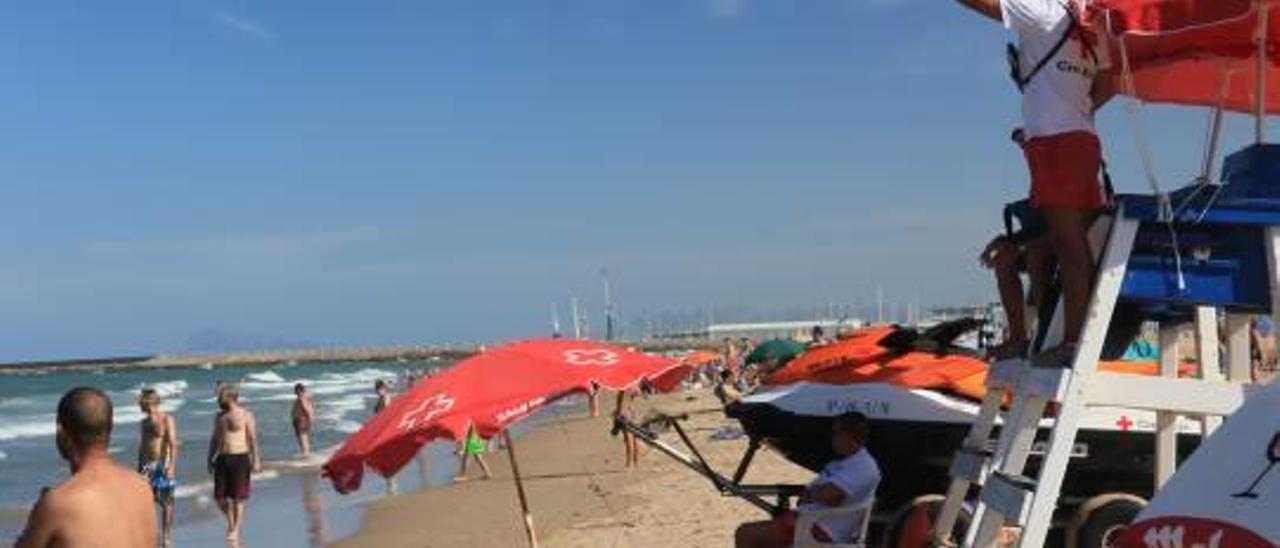
[[[883,472],[877,504],[881,511],[909,506],[920,496],[946,490],[951,460],[978,415],[988,365],[952,343],[957,332],[973,325],[970,320],[932,332],[900,326],[855,332],[832,350],[810,350],[774,371],[726,414],[754,440],[814,471],[835,458],[831,419],[847,411],[867,415],[868,449]],[[1157,371],[1149,361],[1107,361],[1101,367]],[[1048,425],[1046,420],[1037,446],[1043,446]],[[1151,497],[1155,428],[1155,412],[1091,407],[1064,481],[1061,520],[1102,493]],[[1184,419],[1179,431],[1179,453],[1185,457],[1199,443],[1201,425]],[[1033,471],[1038,452],[1033,449]]]

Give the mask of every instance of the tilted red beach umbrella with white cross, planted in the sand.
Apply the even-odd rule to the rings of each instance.
[[[360,488],[365,465],[392,476],[422,444],[462,439],[472,424],[489,438],[557,398],[589,391],[593,382],[621,391],[646,378],[667,380],[663,374],[677,367],[676,360],[589,341],[504,344],[393,399],[343,443],[324,472],[334,489],[348,493]]]

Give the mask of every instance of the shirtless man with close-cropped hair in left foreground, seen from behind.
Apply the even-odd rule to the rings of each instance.
[[[151,489],[106,452],[111,399],[96,388],[63,394],[55,440],[72,476],[40,496],[17,547],[155,547]]]

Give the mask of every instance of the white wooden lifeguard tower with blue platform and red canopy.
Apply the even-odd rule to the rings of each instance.
[[[1132,104],[1139,149],[1156,192],[1117,196],[1114,209],[1093,227],[1091,242],[1098,271],[1073,366],[1036,367],[1027,359],[992,366],[978,419],[951,463],[952,481],[933,529],[938,545],[992,547],[1002,533],[1011,530],[1016,530],[1019,547],[1044,545],[1080,417],[1091,406],[1157,414],[1153,481],[1158,489],[1176,466],[1179,417],[1198,420],[1207,437],[1222,416],[1240,406],[1251,382],[1251,316],[1280,314],[1280,145],[1263,143],[1267,79],[1274,77],[1267,64],[1270,0],[1222,0],[1213,6],[1222,9],[1203,14],[1208,19],[1197,22],[1199,27],[1190,33],[1169,29],[1171,36],[1181,35],[1138,52],[1144,60],[1164,63],[1152,63],[1146,73],[1139,72],[1144,67],[1130,64],[1137,61],[1130,56],[1132,45],[1126,46],[1130,37],[1124,35],[1140,22],[1155,20],[1137,15],[1151,15],[1142,10],[1158,8],[1161,3],[1098,0],[1094,4],[1101,4],[1103,12],[1129,10],[1126,14],[1134,15],[1119,23],[1124,27],[1120,31],[1112,27],[1117,23],[1110,19],[1111,14],[1105,20],[1112,38],[1108,46],[1123,63],[1126,95],[1213,106],[1203,173],[1188,187],[1167,195],[1160,192],[1140,134],[1137,102]],[[1235,4],[1240,13],[1224,8]],[[1184,8],[1188,12],[1169,13],[1193,19],[1196,6]],[[1203,4],[1201,8],[1212,12]],[[1222,54],[1230,59],[1210,67],[1221,70],[1217,81],[1208,82],[1220,91],[1201,97],[1194,95],[1201,91],[1193,90],[1187,96],[1167,99],[1161,96],[1166,90],[1158,85],[1147,90],[1135,86],[1135,78],[1149,78],[1152,70],[1176,69],[1178,61],[1187,61],[1188,70],[1201,70],[1197,74],[1212,74],[1202,65],[1207,58],[1216,59],[1212,47],[1197,50],[1196,40],[1208,38],[1197,38],[1201,35],[1194,32],[1213,32],[1208,27],[1219,23],[1213,40],[1228,36],[1228,41],[1243,44],[1247,54],[1252,51],[1240,55],[1235,47]],[[1243,35],[1231,35],[1233,28]],[[1143,42],[1152,36],[1156,35],[1143,35],[1135,44],[1152,46]],[[1252,101],[1248,110],[1256,115],[1256,143],[1229,155],[1220,179],[1213,182],[1222,111],[1244,110],[1242,100]],[[1098,370],[1103,341],[1120,302],[1137,306],[1147,320],[1160,324],[1160,376]],[[1059,312],[1041,330],[1033,352],[1061,341],[1061,323]],[[1194,325],[1198,373],[1193,378],[1179,376],[1178,339],[1185,325]],[[1011,396],[1011,403],[1006,394]],[[1007,411],[1006,403],[1010,403]],[[998,429],[997,421],[1001,421]],[[1029,475],[1028,458],[1037,434],[1044,429],[1048,434],[1044,455],[1038,474]],[[978,490],[975,498],[973,488]],[[964,538],[952,538],[957,519],[966,511],[970,525]]]

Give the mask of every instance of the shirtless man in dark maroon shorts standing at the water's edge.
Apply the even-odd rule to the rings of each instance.
[[[209,471],[214,475],[214,499],[227,516],[227,540],[239,540],[248,501],[250,474],[262,471],[257,447],[257,421],[239,405],[239,393],[225,388],[218,397],[221,412],[214,417],[209,439]]]

